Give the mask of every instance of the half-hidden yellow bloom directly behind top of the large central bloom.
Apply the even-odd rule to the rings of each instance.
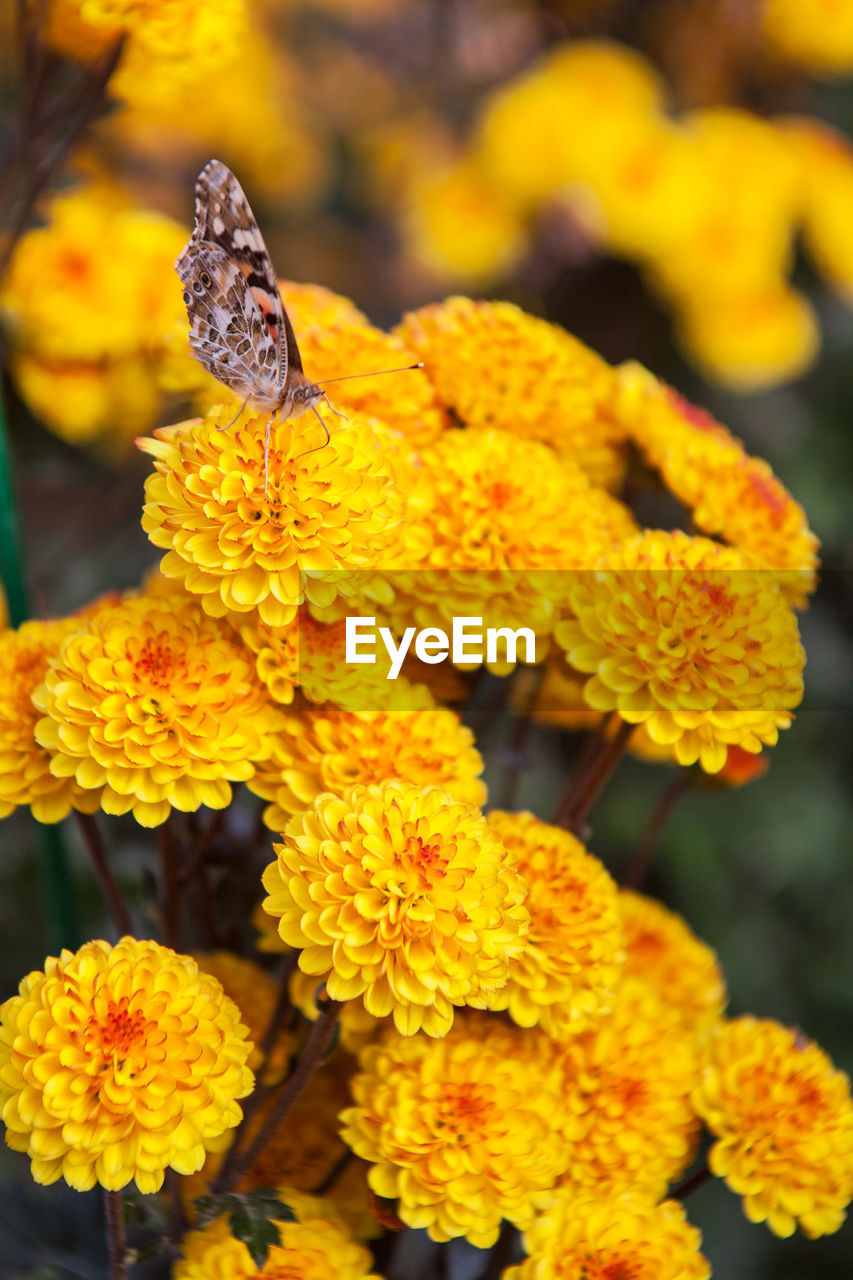
[[[465,804],[485,803],[483,756],[456,712],[348,712],[307,707],[287,716],[259,765],[250,790],[274,801],[264,813],[272,831],[306,809],[321,791],[342,795],[359,783],[405,778],[412,786],[443,787]]]

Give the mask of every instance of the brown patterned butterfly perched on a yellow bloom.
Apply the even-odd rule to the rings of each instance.
[[[275,419],[314,410],[328,443],[329,430],[316,406],[325,401],[333,412],[338,410],[305,375],[264,237],[243,188],[219,160],[206,164],[196,179],[196,223],[174,266],[183,284],[196,360],[242,398],[234,417],[220,430],[236,422],[250,401],[272,411],[264,440],[266,497]]]

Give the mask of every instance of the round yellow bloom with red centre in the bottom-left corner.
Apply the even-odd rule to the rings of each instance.
[[[0,1006],[6,1143],[37,1183],[156,1192],[200,1169],[252,1089],[240,1010],[190,956],[87,942],[50,956]]]

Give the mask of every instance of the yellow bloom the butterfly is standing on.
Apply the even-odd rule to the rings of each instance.
[[[228,419],[224,419],[227,422]],[[304,598],[353,594],[360,570],[396,545],[403,499],[368,422],[273,426],[265,497],[264,419],[218,431],[186,422],[140,440],[155,458],[142,527],[167,577],[181,579],[214,617],[283,627]]]

